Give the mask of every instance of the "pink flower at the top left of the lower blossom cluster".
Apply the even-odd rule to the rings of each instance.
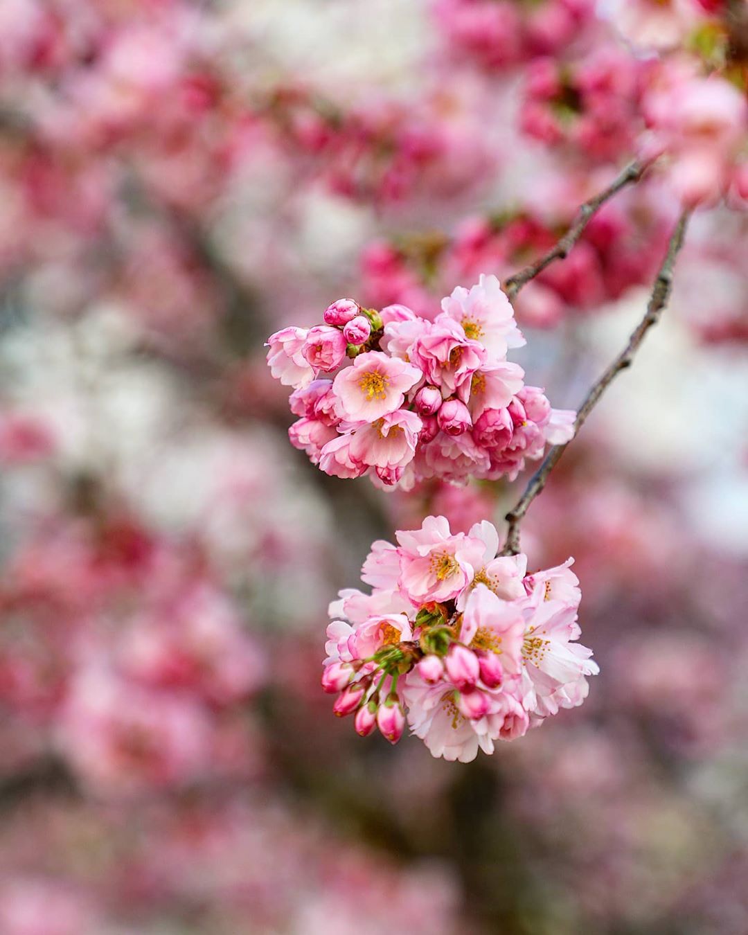
[[[483,544],[464,533],[451,535],[443,516],[426,516],[421,529],[398,531],[400,586],[415,604],[450,600],[472,580]]]

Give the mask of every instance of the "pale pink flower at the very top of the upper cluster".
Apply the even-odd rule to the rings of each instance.
[[[452,295],[441,300],[443,309],[436,322],[451,318],[462,326],[467,338],[480,341],[489,354],[489,362],[503,359],[509,348],[519,348],[525,338],[514,320],[514,309],[502,291],[496,276],[481,275],[469,290],[457,286]]]

